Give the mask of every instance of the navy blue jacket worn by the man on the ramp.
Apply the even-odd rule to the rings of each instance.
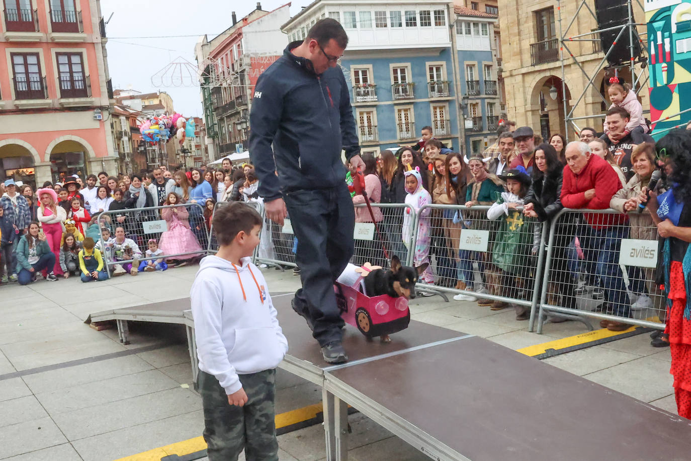
[[[309,59],[290,52],[301,43],[289,44],[254,88],[249,156],[265,200],[343,184],[341,150],[348,160],[360,153],[343,71],[316,75]]]

